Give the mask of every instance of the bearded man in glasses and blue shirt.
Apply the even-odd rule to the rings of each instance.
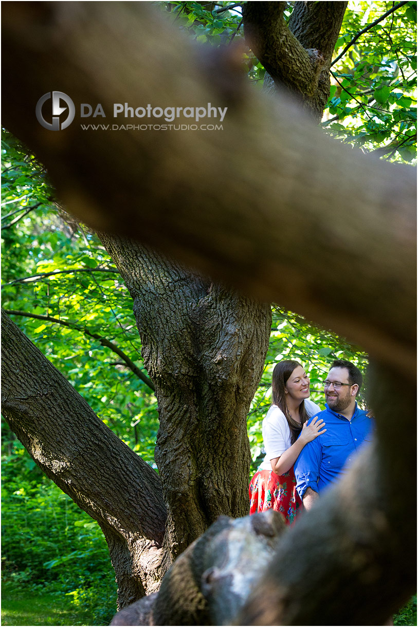
[[[316,414],[323,418],[326,432],[304,446],[294,465],[296,489],[307,510],[372,440],[373,421],[356,403],[362,383],[362,373],[350,361],[333,362],[324,381],[326,409]]]

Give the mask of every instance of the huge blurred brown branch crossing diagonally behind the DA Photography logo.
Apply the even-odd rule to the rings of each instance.
[[[218,63],[196,53],[147,3],[6,3],[3,31],[3,124],[35,150],[70,211],[415,367],[410,167],[324,137],[294,103],[247,88],[232,48]],[[56,85],[108,115],[114,102],[228,111],[222,132],[73,122],[53,133],[35,105]]]

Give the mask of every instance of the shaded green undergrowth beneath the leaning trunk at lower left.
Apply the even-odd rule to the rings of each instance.
[[[68,594],[88,624],[109,623],[115,574],[99,525],[43,475],[7,424],[2,431],[3,586]]]

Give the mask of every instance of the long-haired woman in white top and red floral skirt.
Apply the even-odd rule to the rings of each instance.
[[[262,426],[266,455],[250,482],[250,514],[273,508],[290,525],[303,508],[296,492],[294,462],[304,445],[326,429],[323,419],[306,426],[321,408],[308,400],[309,377],[299,362],[286,359],[276,365],[272,391],[273,404]]]

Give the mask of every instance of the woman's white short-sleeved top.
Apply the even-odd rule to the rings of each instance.
[[[321,411],[319,405],[305,399],[305,409],[309,418]],[[271,470],[270,460],[280,457],[291,446],[291,430],[286,416],[277,405],[272,405],[262,424],[265,458],[259,470]]]

